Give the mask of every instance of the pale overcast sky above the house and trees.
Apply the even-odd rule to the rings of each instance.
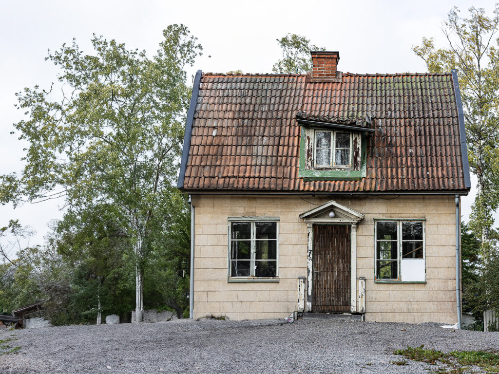
[[[189,71],[192,75],[197,69],[270,72],[281,57],[275,39],[291,32],[338,50],[338,69],[344,72],[424,72],[411,46],[422,36],[435,36],[443,45],[441,25],[453,5],[462,13],[475,5],[490,14],[494,1],[0,0],[0,174],[22,168],[25,145],[9,135],[12,124],[22,118],[13,106],[14,93],[35,84],[49,88],[57,70],[44,61],[47,49],[59,48],[73,37],[84,51],[91,52],[90,39],[96,33],[152,55],[162,30],[183,23],[204,47],[203,56]],[[462,200],[465,220],[473,198],[472,190]],[[19,219],[36,229],[34,239],[41,244],[47,223],[62,216],[62,204],[56,200],[26,203],[15,210],[0,206],[0,226]]]

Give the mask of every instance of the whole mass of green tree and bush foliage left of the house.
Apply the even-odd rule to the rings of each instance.
[[[99,298],[103,314],[124,316],[134,289],[142,299],[133,273],[142,280],[148,269],[146,306],[160,294],[183,314],[186,248],[174,240],[185,241],[189,211],[175,179],[191,94],[184,68],[202,47],[184,25],[168,26],[163,36],[153,57],[95,35],[86,54],[73,40],[46,57],[60,70],[60,94],[55,85],[17,93],[25,119],[14,126],[28,143],[25,167],[20,176],[0,177],[0,201],[60,197],[66,214],[46,248],[18,252],[22,266],[2,278],[10,282],[0,294],[10,304],[2,305],[48,296],[52,323],[93,322]],[[159,289],[163,281],[172,289]]]

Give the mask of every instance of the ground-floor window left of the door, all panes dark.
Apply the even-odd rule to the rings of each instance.
[[[229,277],[276,278],[279,275],[278,264],[277,219],[230,219]]]

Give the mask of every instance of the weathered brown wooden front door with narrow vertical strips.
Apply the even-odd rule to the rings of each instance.
[[[312,312],[350,312],[350,226],[313,226]]]

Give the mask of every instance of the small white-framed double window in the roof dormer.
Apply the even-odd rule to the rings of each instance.
[[[352,133],[315,130],[314,166],[348,168],[352,166]]]

